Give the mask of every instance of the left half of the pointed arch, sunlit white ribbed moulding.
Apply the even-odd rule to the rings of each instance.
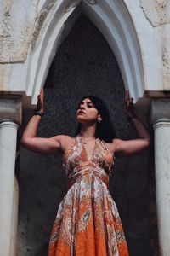
[[[45,82],[59,45],[77,20],[80,3],[81,0],[59,0],[42,6],[26,61],[26,95],[31,96],[33,104],[37,102],[37,94]]]

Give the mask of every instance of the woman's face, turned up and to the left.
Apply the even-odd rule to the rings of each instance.
[[[95,123],[99,118],[100,115],[94,103],[89,98],[82,100],[77,109],[77,121],[81,124]]]

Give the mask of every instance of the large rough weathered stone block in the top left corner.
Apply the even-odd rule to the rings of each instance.
[[[37,0],[0,1],[1,63],[26,61],[36,18],[36,9]]]

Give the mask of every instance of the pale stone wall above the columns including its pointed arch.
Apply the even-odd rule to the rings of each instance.
[[[103,3],[82,1],[81,4],[79,0],[1,1],[0,61],[3,64],[0,66],[0,90],[26,94],[35,103],[56,49],[65,30],[68,31],[68,24],[71,27],[73,16],[72,20],[69,16],[77,18],[74,12],[77,6],[91,17],[99,29],[103,27],[102,32],[115,52],[123,80],[135,101],[143,96],[144,90],[149,96],[154,96],[155,91],[157,96],[161,96],[162,91],[170,90],[170,26],[167,24],[162,29],[150,26],[139,0]],[[141,5],[151,9],[152,3],[155,2],[143,1]],[[169,12],[169,1],[157,1],[156,4]]]

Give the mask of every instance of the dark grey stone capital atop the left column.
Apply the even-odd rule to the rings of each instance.
[[[11,121],[21,124],[22,119],[22,102],[21,96],[0,96],[0,123]]]

